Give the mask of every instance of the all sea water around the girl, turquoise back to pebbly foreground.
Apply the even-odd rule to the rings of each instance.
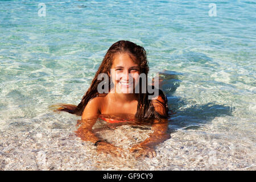
[[[255,170],[255,1],[0,1],[1,170]],[[108,48],[130,40],[162,73],[176,114],[156,158],[97,154],[75,136],[79,104]],[[129,148],[150,130],[106,130]]]

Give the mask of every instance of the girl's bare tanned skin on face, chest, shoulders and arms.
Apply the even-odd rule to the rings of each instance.
[[[138,81],[139,65],[134,61],[135,57],[122,53],[114,56],[111,74],[114,75],[114,89],[110,90],[108,94],[101,94],[99,97],[95,97],[86,105],[80,123],[79,129],[76,131],[77,136],[82,140],[96,143],[101,140],[93,133],[92,127],[96,123],[96,120],[100,114],[127,114],[135,116],[137,113],[138,98],[134,93],[128,93],[129,86],[123,86],[119,82],[128,82],[129,79],[133,79],[136,84]],[[129,74],[130,73],[130,77]],[[110,73],[109,73],[110,74]],[[119,84],[118,84],[119,83]],[[153,100],[155,111],[159,114],[166,114],[165,108],[158,104],[160,101],[164,103],[162,97],[158,96]],[[131,123],[133,125],[133,123]],[[155,119],[151,125],[153,133],[150,134],[143,142],[131,147],[130,152],[133,152],[135,156],[148,156],[150,158],[156,156],[154,147],[156,144],[163,142],[170,138],[170,134],[167,133],[168,119],[161,119],[161,121]],[[122,148],[118,148],[111,143],[102,141],[97,143],[97,151],[105,152],[115,156],[121,156]]]

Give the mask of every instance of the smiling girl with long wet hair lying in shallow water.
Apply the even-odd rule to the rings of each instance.
[[[117,114],[119,118],[130,118],[130,123],[151,123],[154,133],[142,143],[131,148],[137,156],[155,156],[154,146],[170,138],[167,134],[168,105],[162,90],[153,100],[150,99],[148,88],[142,83],[142,77],[147,74],[148,65],[146,51],[132,42],[120,40],[114,43],[106,55],[92,80],[88,91],[82,97],[79,105],[61,104],[55,111],[67,111],[81,115],[82,124],[76,131],[83,140],[89,140],[97,146],[98,151],[119,155],[120,148],[106,140],[98,138],[92,130],[98,117],[107,122],[123,122],[122,119],[106,118],[106,114]],[[104,85],[100,74],[105,74]],[[109,82],[108,82],[109,81]],[[102,89],[108,92],[103,92]],[[138,90],[138,92],[136,92]],[[146,92],[143,92],[146,90]],[[103,117],[102,117],[103,116]],[[121,116],[121,117],[120,117]],[[125,119],[127,122],[127,119]]]

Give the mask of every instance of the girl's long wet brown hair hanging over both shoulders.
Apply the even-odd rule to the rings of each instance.
[[[67,111],[71,114],[76,115],[82,115],[82,112],[85,109],[85,106],[88,104],[88,102],[94,98],[99,96],[98,93],[98,84],[102,80],[98,80],[98,75],[100,73],[110,73],[110,68],[113,64],[113,58],[117,53],[128,53],[130,55],[133,55],[136,57],[136,62],[139,65],[139,71],[140,73],[144,73],[147,78],[147,74],[149,71],[148,68],[148,61],[147,61],[147,53],[145,49],[141,46],[138,46],[137,44],[127,41],[127,40],[119,40],[118,42],[114,43],[106,52],[106,55],[104,56],[104,59],[102,60],[102,63],[100,67],[98,68],[98,71],[96,72],[92,84],[90,84],[89,89],[82,97],[82,100],[79,105],[71,105],[71,104],[60,104],[59,108],[57,108],[55,111]],[[141,78],[140,78],[141,79]],[[110,79],[109,77],[109,80]],[[147,80],[147,79],[146,79]],[[138,105],[137,105],[137,113],[135,114],[135,118],[137,118],[138,121],[147,121],[153,118],[160,119],[160,118],[168,118],[168,105],[167,105],[167,98],[164,96],[164,93],[162,90],[159,90],[159,96],[162,97],[162,101],[159,100],[149,100],[148,96],[150,94],[148,93],[148,90],[146,88],[146,93],[142,93],[142,81],[139,81],[139,93],[138,94]],[[113,88],[113,82],[109,82],[109,91]],[[163,111],[162,114],[155,111],[154,105],[160,106]]]

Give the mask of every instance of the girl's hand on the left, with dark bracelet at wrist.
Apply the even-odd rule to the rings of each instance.
[[[102,141],[97,144],[97,152],[121,157],[122,149],[115,147],[113,144]]]

